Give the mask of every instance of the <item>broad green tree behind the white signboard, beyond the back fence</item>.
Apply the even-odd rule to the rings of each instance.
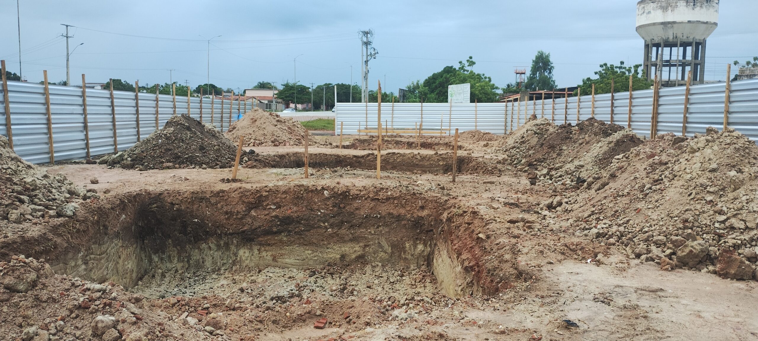
[[[417,81],[409,84],[406,102],[419,102],[423,98],[424,102],[445,103],[447,86],[462,83],[471,83],[471,102],[496,102],[499,88],[492,83],[492,78],[474,72],[476,62],[472,58],[469,56],[465,63],[459,61],[457,68],[443,67],[439,72],[427,77],[423,83]]]

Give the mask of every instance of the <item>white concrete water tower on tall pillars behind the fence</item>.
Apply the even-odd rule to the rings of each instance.
[[[637,2],[637,33],[645,39],[643,70],[661,86],[702,84],[706,39],[719,26],[719,0],[642,0]]]

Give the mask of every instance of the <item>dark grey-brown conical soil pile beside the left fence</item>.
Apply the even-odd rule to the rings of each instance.
[[[148,171],[172,168],[229,168],[237,146],[215,128],[187,115],[174,115],[161,130],[132,148],[99,159],[99,164]],[[243,151],[240,163],[246,162]]]

